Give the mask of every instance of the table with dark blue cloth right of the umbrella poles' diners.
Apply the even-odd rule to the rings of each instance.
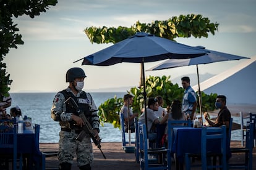
[[[216,128],[216,127],[211,127]],[[179,163],[184,161],[185,153],[201,153],[201,133],[202,128],[194,127],[174,127],[173,128],[173,145],[171,153],[176,153]],[[220,140],[213,139],[208,143],[207,150],[220,153],[221,148],[218,145]],[[231,157],[229,148],[227,149],[228,158]]]

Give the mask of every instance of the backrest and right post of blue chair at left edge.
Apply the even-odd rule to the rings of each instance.
[[[0,148],[13,150],[13,169],[17,169],[17,125],[0,126]]]

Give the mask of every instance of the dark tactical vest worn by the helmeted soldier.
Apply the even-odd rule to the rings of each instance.
[[[80,97],[75,97],[72,92],[67,92],[66,89],[61,91],[61,93],[64,95],[65,100],[67,100],[69,97],[72,97],[77,105],[79,106],[79,109],[85,114],[87,117],[88,121],[92,123],[92,111],[91,111],[91,106],[92,106],[92,97],[91,100],[87,98],[87,95],[85,92],[82,92],[80,94]],[[77,111],[75,110],[74,107],[70,107],[70,105],[66,104],[66,113],[73,113],[76,116],[79,116]],[[67,122],[60,121],[59,124],[61,126],[66,126],[69,127],[70,129],[80,129],[80,126],[77,126],[77,123],[74,120]]]

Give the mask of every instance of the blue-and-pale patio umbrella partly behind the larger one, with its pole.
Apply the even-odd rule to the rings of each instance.
[[[205,48],[202,46],[197,46],[197,47],[200,49]],[[239,55],[227,54],[227,53],[218,52],[218,51],[211,51],[208,49],[207,51],[209,51],[207,54],[202,55],[200,57],[194,57],[192,59],[181,59],[181,60],[169,59],[147,70],[147,71],[153,71],[153,70],[163,70],[163,69],[174,68],[174,67],[197,65],[197,81],[198,81],[198,95],[199,95],[198,99],[199,99],[199,108],[200,108],[201,117],[203,116],[203,114],[202,114],[202,99],[201,99],[200,81],[199,81],[199,74],[198,74],[198,64],[207,64],[207,63],[222,62],[222,61],[228,61],[228,60],[250,59],[248,57],[241,57]]]

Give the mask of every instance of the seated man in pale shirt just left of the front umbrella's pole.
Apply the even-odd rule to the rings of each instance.
[[[132,105],[132,102],[134,97],[130,94],[124,95],[124,105],[121,108],[120,113],[124,115],[124,127],[125,132],[128,132],[128,117],[129,117],[129,123],[130,123],[130,132],[135,132],[135,126],[134,126],[134,118],[138,116],[138,113],[133,113],[132,109],[130,108],[130,105]],[[129,113],[128,113],[129,108]],[[130,115],[130,116],[128,116]]]

